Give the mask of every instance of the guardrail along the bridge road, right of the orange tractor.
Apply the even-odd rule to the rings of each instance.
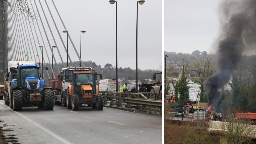
[[[154,111],[155,114],[159,112],[162,115],[162,101],[148,99],[142,93],[133,93],[133,92],[106,92],[100,91],[104,96],[104,104],[108,104],[107,101],[110,101],[110,105],[123,106],[123,103],[126,103],[126,107],[131,108],[131,104],[136,105],[137,109]],[[109,100],[110,99],[110,100]]]

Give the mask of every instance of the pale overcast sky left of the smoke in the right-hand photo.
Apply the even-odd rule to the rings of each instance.
[[[220,0],[165,0],[165,51],[214,52]]]

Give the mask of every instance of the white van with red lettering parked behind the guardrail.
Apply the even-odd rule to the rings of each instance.
[[[118,91],[122,87],[121,80],[118,79]],[[116,91],[116,79],[104,79],[99,81],[99,91]]]

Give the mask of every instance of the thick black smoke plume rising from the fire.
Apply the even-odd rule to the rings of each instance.
[[[219,98],[218,89],[230,80],[242,55],[255,52],[255,11],[255,0],[224,0],[220,4],[217,72],[204,82],[209,105]]]

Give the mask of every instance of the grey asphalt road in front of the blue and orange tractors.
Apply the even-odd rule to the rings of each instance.
[[[23,107],[10,110],[0,100],[0,125],[4,135],[21,144],[160,144],[162,118],[152,114],[127,112],[104,107],[79,111],[62,106],[45,111]]]

